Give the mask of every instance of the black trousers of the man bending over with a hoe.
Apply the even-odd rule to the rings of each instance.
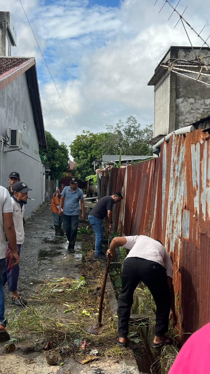
[[[142,281],[151,292],[156,304],[155,335],[164,335],[169,329],[170,292],[166,269],[157,262],[139,257],[126,258],[122,271],[122,289],[118,300],[118,334],[128,335],[133,293]]]

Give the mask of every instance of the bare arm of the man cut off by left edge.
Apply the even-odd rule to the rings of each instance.
[[[15,266],[19,262],[18,249],[16,243],[15,226],[12,218],[12,213],[2,213],[4,232],[11,248],[10,260],[12,266]]]

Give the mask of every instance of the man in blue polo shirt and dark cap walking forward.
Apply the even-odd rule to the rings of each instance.
[[[65,198],[65,199],[64,199]],[[61,215],[61,208],[64,205],[63,224],[69,241],[68,250],[74,253],[74,245],[77,237],[77,229],[79,222],[79,212],[81,203],[81,220],[84,219],[84,195],[83,191],[78,188],[78,179],[71,177],[70,186],[63,189],[59,203],[58,215]]]

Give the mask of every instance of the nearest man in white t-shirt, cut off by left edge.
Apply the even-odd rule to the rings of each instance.
[[[6,319],[4,318],[4,290],[3,290],[3,272],[6,263],[7,243],[5,235],[10,242],[11,252],[9,256],[10,265],[16,266],[19,261],[15,227],[12,219],[12,201],[6,188],[0,186],[0,341],[10,339],[6,331]]]

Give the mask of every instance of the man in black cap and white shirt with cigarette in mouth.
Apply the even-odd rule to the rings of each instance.
[[[12,186],[13,196],[12,208],[13,208],[13,221],[15,226],[18,255],[20,255],[21,245],[24,242],[24,226],[23,226],[23,215],[25,211],[25,204],[27,204],[28,191],[32,191],[31,188],[23,182],[16,182]],[[10,243],[8,243],[7,254],[6,254],[6,269],[3,274],[3,285],[7,282],[8,290],[12,292],[12,303],[18,306],[26,306],[27,301],[24,300],[17,291],[18,277],[19,277],[19,265],[15,267],[10,266]]]

